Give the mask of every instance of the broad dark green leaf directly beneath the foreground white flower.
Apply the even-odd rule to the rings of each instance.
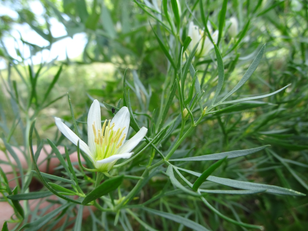
[[[105,180],[102,184],[100,184],[98,187],[94,188],[92,192],[90,192],[82,201],[83,205],[86,205],[87,203],[96,200],[99,197],[102,197],[106,195],[107,193],[110,193],[117,189],[124,179],[124,175],[121,176],[115,176],[113,178],[110,178],[108,180]]]

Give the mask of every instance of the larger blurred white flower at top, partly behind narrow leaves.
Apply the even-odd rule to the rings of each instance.
[[[207,27],[209,29],[209,32],[211,33],[211,37],[214,43],[217,43],[218,30],[213,32],[212,26],[210,24],[208,24]],[[213,42],[207,36],[205,36],[204,30],[199,29],[199,27],[194,25],[193,22],[189,23],[187,35],[192,39],[192,41],[188,45],[188,48],[191,51],[200,41],[196,50],[197,55],[205,56],[214,48]]]

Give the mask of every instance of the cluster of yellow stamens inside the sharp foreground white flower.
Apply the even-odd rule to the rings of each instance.
[[[96,147],[96,160],[103,160],[109,156],[116,154],[116,151],[122,146],[126,134],[122,135],[125,127],[113,130],[115,124],[110,125],[110,121],[105,120],[102,130],[96,131],[95,124],[92,124],[94,133],[94,142]],[[106,126],[107,125],[107,126]]]

